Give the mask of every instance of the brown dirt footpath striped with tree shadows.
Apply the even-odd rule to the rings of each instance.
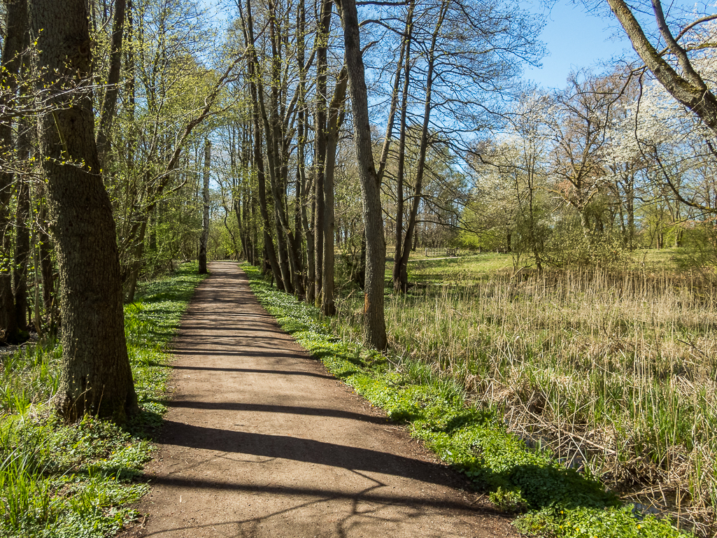
[[[338,382],[210,265],[174,343],[174,400],[143,525],[123,537],[505,537],[516,533],[404,428]]]

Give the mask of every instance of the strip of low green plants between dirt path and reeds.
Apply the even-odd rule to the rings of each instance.
[[[495,412],[467,405],[464,390],[422,362],[387,357],[342,341],[318,309],[277,291],[244,264],[252,291],[313,357],[391,420],[419,438],[488,493],[516,527],[544,537],[686,537],[669,519],[622,504],[597,479],[566,468],[546,450],[528,448]]]

